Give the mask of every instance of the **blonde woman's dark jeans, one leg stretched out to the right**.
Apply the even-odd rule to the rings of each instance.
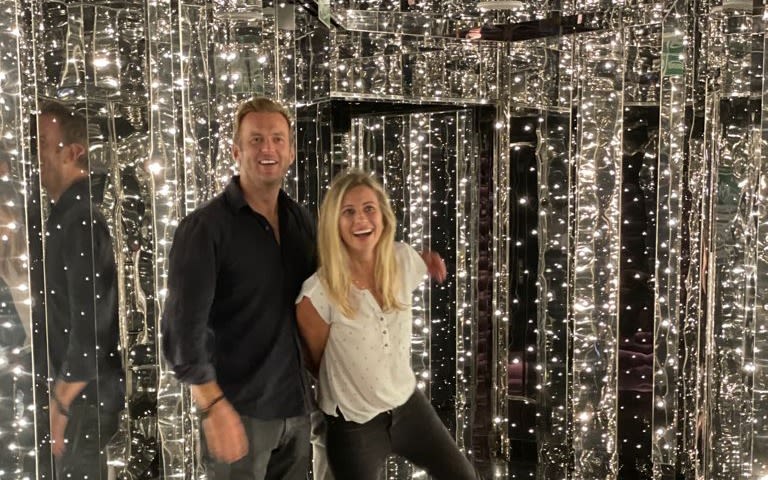
[[[328,462],[336,480],[376,480],[394,453],[435,480],[476,480],[475,469],[456,446],[419,390],[405,404],[360,424],[326,415]]]

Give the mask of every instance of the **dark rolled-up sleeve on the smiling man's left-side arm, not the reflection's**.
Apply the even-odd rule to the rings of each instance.
[[[163,354],[179,381],[193,385],[216,379],[208,324],[216,290],[216,241],[204,218],[188,217],[176,229],[169,255]]]

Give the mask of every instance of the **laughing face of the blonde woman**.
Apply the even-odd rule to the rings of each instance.
[[[383,229],[384,222],[376,192],[363,185],[348,190],[341,200],[339,233],[349,254],[373,254]]]

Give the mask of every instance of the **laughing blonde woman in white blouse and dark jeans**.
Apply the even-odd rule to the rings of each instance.
[[[297,320],[336,480],[375,480],[395,453],[438,480],[475,479],[410,367],[411,292],[442,259],[396,243],[381,185],[352,172],[336,179],[320,209],[320,269],[304,282]]]

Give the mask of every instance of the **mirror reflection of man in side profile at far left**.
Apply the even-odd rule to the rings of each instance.
[[[51,448],[59,479],[106,479],[104,446],[124,404],[117,272],[104,217],[93,205],[85,118],[59,103],[38,117],[45,228],[45,305]]]

